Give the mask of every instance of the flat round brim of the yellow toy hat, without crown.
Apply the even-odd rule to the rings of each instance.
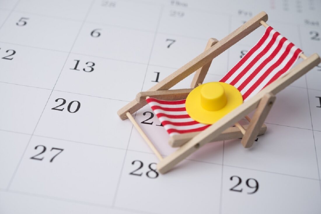
[[[218,82],[223,86],[227,98],[226,105],[218,111],[208,111],[201,106],[201,89],[205,83],[193,89],[187,96],[185,107],[187,114],[202,124],[213,124],[243,103],[241,92],[234,86]]]

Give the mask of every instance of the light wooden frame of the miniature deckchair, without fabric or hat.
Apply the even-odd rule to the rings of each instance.
[[[170,137],[169,144],[179,148],[169,156],[163,158],[134,120],[132,114],[147,104],[146,97],[149,96],[160,99],[164,98],[166,100],[185,99],[193,88],[203,83],[211,62],[216,56],[233,46],[259,26],[263,25],[264,27],[268,27],[265,23],[267,19],[267,14],[261,12],[220,41],[213,38],[209,39],[203,53],[157,83],[148,91],[138,93],[136,99],[118,110],[117,114],[120,118],[122,120],[126,118],[130,119],[143,139],[160,159],[160,162],[157,164],[157,169],[160,173],[168,172],[184,158],[209,142],[242,138],[242,145],[245,148],[251,147],[256,137],[264,134],[266,131],[264,121],[275,101],[275,94],[289,86],[292,82],[299,79],[320,63],[320,57],[317,54],[313,54],[309,57],[300,54],[300,57],[303,59],[301,63],[294,66],[286,75],[283,75],[281,78],[266,86],[255,96],[248,99],[204,131],[179,134]],[[195,71],[196,73],[191,83],[191,89],[169,90],[169,88],[173,87]],[[250,119],[247,115],[255,109],[254,116]],[[244,117],[250,123],[242,126],[238,121]],[[231,127],[233,124],[235,124],[235,127]]]

